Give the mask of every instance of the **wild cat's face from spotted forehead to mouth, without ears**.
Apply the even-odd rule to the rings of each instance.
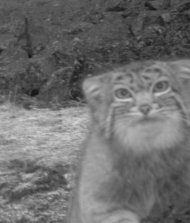
[[[115,114],[126,118],[129,125],[165,122],[179,110],[173,83],[164,69],[125,67],[114,73],[111,82]]]

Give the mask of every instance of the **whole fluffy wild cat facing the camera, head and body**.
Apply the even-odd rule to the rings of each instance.
[[[188,75],[189,61],[148,61],[84,82],[92,125],[69,223],[138,223],[190,201]]]

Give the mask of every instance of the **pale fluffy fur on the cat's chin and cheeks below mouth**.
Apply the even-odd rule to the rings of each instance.
[[[122,121],[114,123],[114,137],[123,146],[136,152],[166,149],[179,144],[184,139],[184,126],[181,114],[173,112],[160,122],[129,125]]]

